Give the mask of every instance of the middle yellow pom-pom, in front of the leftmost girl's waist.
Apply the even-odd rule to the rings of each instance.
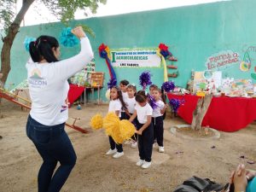
[[[108,136],[112,137],[112,131],[116,127],[119,127],[119,121],[119,117],[113,112],[108,113],[103,119],[103,127],[106,129]]]

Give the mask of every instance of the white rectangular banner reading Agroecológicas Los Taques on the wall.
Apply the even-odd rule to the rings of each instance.
[[[155,49],[111,49],[113,67],[160,67]]]

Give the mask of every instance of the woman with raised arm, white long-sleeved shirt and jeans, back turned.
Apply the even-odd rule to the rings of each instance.
[[[66,60],[59,61],[60,47],[54,37],[40,36],[29,44],[32,60],[26,63],[26,69],[32,110],[26,134],[44,161],[38,172],[38,191],[60,191],[77,159],[64,130],[68,118],[67,79],[90,62],[93,52],[81,26],[72,32],[80,38],[81,50]],[[58,162],[61,166],[55,170]]]

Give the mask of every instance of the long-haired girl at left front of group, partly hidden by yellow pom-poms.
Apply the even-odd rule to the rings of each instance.
[[[110,90],[110,102],[108,112],[114,112],[121,119],[121,111],[125,110],[125,102],[123,101],[122,91],[118,87],[113,86]],[[106,154],[113,154],[113,158],[119,158],[124,155],[122,143],[115,143],[111,136],[109,137],[110,148]]]

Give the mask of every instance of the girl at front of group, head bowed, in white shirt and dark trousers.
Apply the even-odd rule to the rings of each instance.
[[[151,166],[151,156],[154,141],[154,129],[151,123],[153,109],[148,104],[148,97],[144,90],[139,90],[135,96],[137,105],[134,113],[129,121],[133,121],[136,117],[138,120],[137,133],[138,135],[138,150],[140,160],[137,161],[137,166],[142,166],[147,169]]]

